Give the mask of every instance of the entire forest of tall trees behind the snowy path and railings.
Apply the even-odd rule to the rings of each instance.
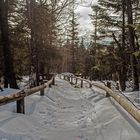
[[[80,0],[0,0],[0,77],[18,88],[24,75],[70,72],[90,80],[140,80],[140,1],[98,0],[88,5],[93,29],[80,36]],[[88,26],[88,25],[86,25]],[[106,40],[108,43],[104,43]]]

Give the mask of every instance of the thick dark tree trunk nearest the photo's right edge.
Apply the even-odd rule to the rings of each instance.
[[[135,46],[135,31],[134,28],[130,25],[133,25],[133,13],[132,13],[132,1],[126,0],[127,4],[127,16],[128,16],[128,25],[129,25],[129,45],[131,50],[131,67],[132,67],[132,80],[133,80],[133,90],[139,90],[139,79],[138,79],[138,69],[137,69],[137,60],[134,56],[134,52],[136,51]]]

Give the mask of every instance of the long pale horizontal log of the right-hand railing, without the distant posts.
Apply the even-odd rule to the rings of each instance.
[[[74,77],[76,78],[77,80],[81,80],[81,81],[86,81],[88,82],[90,85],[92,86],[95,86],[95,87],[98,87],[104,91],[106,91],[106,96],[109,97],[111,96],[115,101],[117,101],[131,116],[133,116],[133,118],[135,118],[135,120],[137,122],[140,123],[140,110],[132,103],[130,102],[126,97],[124,96],[121,96],[117,93],[115,93],[112,89],[110,89],[110,84],[108,84],[108,87],[103,85],[103,84],[100,84],[100,83],[97,83],[95,81],[89,81],[87,79],[83,79],[83,78],[79,78],[79,77],[76,77],[76,76],[66,76],[65,75],[65,79],[66,77]],[[76,81],[77,81],[76,80]]]

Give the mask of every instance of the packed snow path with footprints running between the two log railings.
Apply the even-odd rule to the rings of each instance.
[[[15,107],[0,107],[0,140],[140,140],[139,124],[94,87],[57,78],[44,97],[26,98],[25,115]]]

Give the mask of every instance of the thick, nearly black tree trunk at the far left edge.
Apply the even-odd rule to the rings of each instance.
[[[0,29],[4,54],[4,87],[18,88],[13,67],[8,29],[8,0],[0,0]]]

